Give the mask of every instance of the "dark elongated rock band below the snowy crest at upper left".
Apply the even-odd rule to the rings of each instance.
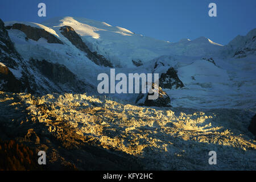
[[[40,38],[44,38],[48,43],[63,44],[56,36],[49,32],[36,27],[27,26],[26,24],[14,23],[13,26],[7,26],[6,29],[16,29],[24,32],[28,39],[38,41]]]

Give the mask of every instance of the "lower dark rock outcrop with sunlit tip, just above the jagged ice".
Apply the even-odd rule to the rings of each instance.
[[[156,107],[170,107],[170,102],[171,102],[171,99],[170,97],[167,95],[166,92],[164,92],[162,90],[162,88],[159,88],[158,89],[154,89],[154,83],[152,84],[152,89],[154,92],[158,92],[159,96],[156,100],[149,100],[148,99],[148,96],[150,95],[153,95],[154,93],[147,93],[147,96],[145,97],[145,94],[143,93],[140,93],[139,96],[137,97],[137,100],[136,100],[136,103],[138,103],[140,100],[143,101],[144,99],[144,102],[140,102],[139,105],[144,105],[144,106],[156,106]]]

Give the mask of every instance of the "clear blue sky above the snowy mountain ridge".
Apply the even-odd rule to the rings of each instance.
[[[46,3],[46,18],[38,16],[40,2]],[[208,16],[210,2],[217,4],[217,17]],[[4,22],[84,17],[170,42],[205,36],[227,44],[256,28],[255,0],[1,0],[0,9]]]

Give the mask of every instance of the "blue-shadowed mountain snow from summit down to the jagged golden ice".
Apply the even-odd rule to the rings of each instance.
[[[14,22],[11,22],[14,23]],[[10,22],[7,24],[11,24]],[[21,22],[24,23],[24,22]],[[116,73],[165,73],[174,67],[178,71],[184,88],[165,91],[171,97],[172,106],[192,108],[256,108],[255,56],[242,59],[225,58],[255,36],[252,30],[246,36],[238,36],[228,46],[200,37],[195,40],[181,39],[177,43],[148,38],[105,22],[85,18],[55,18],[43,24],[25,23],[44,28],[56,35],[63,44],[49,44],[43,38],[37,42],[18,30],[9,30],[15,48],[25,60],[33,57],[65,65],[81,80],[97,86],[97,75],[110,72],[110,68],[100,67],[90,61],[84,52],[77,49],[61,33],[61,26],[71,26],[81,36],[92,51],[108,58]],[[248,44],[248,43],[247,43]],[[236,46],[238,45],[238,46]],[[255,47],[254,42],[249,45]],[[202,58],[213,57],[216,65]],[[225,58],[225,59],[224,59]],[[131,60],[141,60],[143,65],[135,67]],[[156,61],[162,62],[155,70]],[[93,74],[92,74],[93,70]],[[137,94],[110,94],[110,97],[135,102]]]

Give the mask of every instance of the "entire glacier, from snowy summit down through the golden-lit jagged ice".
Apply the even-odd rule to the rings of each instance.
[[[43,37],[29,39],[23,31],[11,28],[15,23],[40,28],[63,44],[49,43]],[[61,34],[63,26],[72,27],[90,51],[110,60],[116,74],[161,75],[173,68],[184,86],[163,89],[172,107],[138,106],[139,94],[98,94],[97,76],[108,74],[110,67],[93,63]],[[27,72],[48,93],[0,92],[1,106],[26,108],[27,117],[46,125],[49,135],[59,134],[56,121],[67,123],[82,140],[89,138],[109,151],[136,156],[143,169],[256,168],[256,143],[247,130],[256,113],[256,28],[221,45],[205,37],[179,42],[156,40],[105,22],[70,16],[41,24],[5,22],[5,27],[22,57],[22,64],[9,70],[19,80],[27,66]],[[76,81],[94,89],[55,93],[55,82],[44,81],[44,75],[31,66],[41,63],[38,61],[58,65],[53,68],[63,65]],[[11,117],[9,109],[5,113]],[[216,167],[204,160],[209,149],[220,156]]]

